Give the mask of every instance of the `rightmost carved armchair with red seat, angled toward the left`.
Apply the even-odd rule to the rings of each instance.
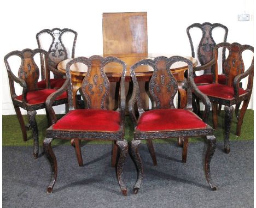
[[[217,76],[218,71],[218,50],[219,48],[226,48],[229,51],[229,56],[223,64],[223,71],[226,76],[226,83],[219,83]],[[218,114],[217,105],[224,105],[225,110],[225,137],[224,137],[224,151],[230,152],[229,134],[232,121],[232,114],[234,111],[233,105],[239,106],[243,101],[243,105],[240,113],[237,111],[237,127],[236,136],[241,134],[241,126],[243,123],[243,117],[245,115],[248,103],[251,98],[253,88],[253,59],[252,64],[247,70],[243,63],[242,52],[252,51],[254,48],[249,45],[240,45],[237,42],[229,44],[228,42],[222,42],[214,47],[214,58],[205,66],[199,66],[194,70],[205,70],[208,67],[215,65],[216,77],[215,82],[212,84],[201,85],[199,90],[206,94],[212,102],[212,113],[213,113],[213,129],[217,129],[218,126]],[[243,78],[248,77],[247,88],[241,88],[240,82]]]

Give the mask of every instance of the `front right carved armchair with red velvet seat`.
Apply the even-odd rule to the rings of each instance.
[[[178,86],[170,67],[176,62],[185,62],[188,64],[189,68],[189,78],[187,81],[184,81],[184,84],[187,85],[188,93],[187,105],[184,109],[174,107],[173,99],[177,94]],[[155,101],[155,107],[149,111],[143,109],[138,81],[135,75],[135,70],[141,65],[148,65],[154,69],[152,78],[149,81],[149,92],[152,99]],[[129,101],[129,112],[133,125],[135,126],[134,139],[132,139],[131,142],[131,151],[138,170],[137,181],[133,187],[133,192],[135,194],[138,192],[144,173],[143,164],[138,151],[138,145],[141,143],[141,140],[145,139],[147,142],[152,143],[152,139],[181,137],[184,140],[182,161],[186,162],[188,137],[197,136],[204,136],[208,141],[208,149],[205,155],[205,174],[211,189],[215,190],[216,187],[211,183],[210,161],[216,149],[216,138],[213,136],[212,127],[206,124],[211,103],[208,97],[197,89],[193,81],[192,62],[179,56],[171,58],[156,57],[154,60],[144,59],[137,62],[131,67],[130,72],[133,82],[133,91]],[[191,90],[194,90],[194,93],[200,97],[206,106],[203,119],[192,112]],[[136,105],[138,107],[138,118],[135,112]],[[157,162],[153,144],[148,145],[148,149],[153,159],[153,164],[156,165]]]

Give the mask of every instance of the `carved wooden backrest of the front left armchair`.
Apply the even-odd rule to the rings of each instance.
[[[70,80],[68,87],[69,109],[74,109],[74,105],[72,103],[70,66],[78,62],[88,66],[86,76],[82,82],[82,94],[86,99],[87,108],[108,109],[109,80],[104,72],[104,66],[112,62],[118,63],[122,66],[120,88],[123,88],[124,90],[126,71],[125,63],[116,57],[103,58],[101,56],[92,56],[90,58],[78,57],[68,62],[66,67],[66,76]]]

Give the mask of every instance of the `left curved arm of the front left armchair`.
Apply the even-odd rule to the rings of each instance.
[[[55,124],[57,121],[56,114],[53,109],[53,103],[58,96],[60,96],[62,93],[64,93],[68,89],[69,82],[70,82],[70,79],[67,78],[66,81],[63,83],[62,87],[57,91],[55,91],[54,93],[50,94],[45,101],[46,111],[48,111],[49,113],[51,125]]]

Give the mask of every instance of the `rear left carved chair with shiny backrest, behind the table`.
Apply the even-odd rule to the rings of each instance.
[[[45,33],[49,34],[52,38],[52,42],[49,46],[48,53],[49,53],[49,68],[50,68],[50,71],[53,72],[54,78],[50,79],[50,87],[58,89],[65,82],[65,78],[63,78],[65,74],[57,70],[57,65],[62,60],[65,60],[68,58],[74,58],[75,43],[77,41],[77,32],[68,28],[43,29],[36,34],[37,45],[39,48],[42,48],[42,44],[43,44],[42,40],[40,39],[40,36],[42,36],[42,34],[45,34]],[[74,34],[71,54],[68,54],[68,49],[66,48],[66,46],[62,41],[62,35],[65,33]],[[41,59],[42,68],[44,68],[43,56],[40,56],[40,59]],[[38,88],[45,88],[45,72],[43,70],[41,71],[41,78],[42,78],[42,81],[38,82]]]

